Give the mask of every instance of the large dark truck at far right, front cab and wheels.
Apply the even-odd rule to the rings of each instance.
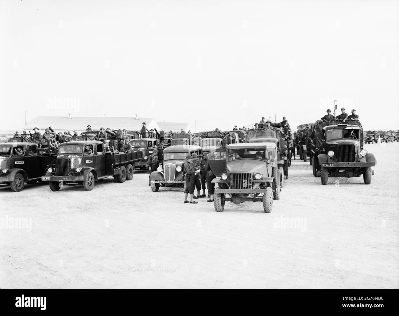
[[[334,124],[342,121],[318,122],[312,132],[313,175],[321,177],[323,185],[328,177],[360,177],[371,183],[377,161],[363,149],[363,133],[358,121],[353,124]]]

